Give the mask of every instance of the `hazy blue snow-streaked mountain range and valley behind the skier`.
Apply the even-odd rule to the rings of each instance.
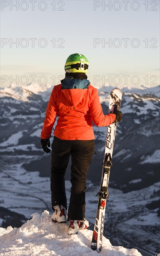
[[[15,222],[16,226],[19,227],[33,213],[34,208],[39,213],[42,209],[51,210],[48,185],[51,155],[46,155],[40,148],[40,132],[52,88],[51,85],[29,84],[28,86],[21,86],[12,84],[10,87],[0,90],[2,195],[0,220],[2,227],[6,227],[10,222]],[[109,94],[112,89],[111,86],[98,88],[104,114],[108,114]],[[115,220],[109,213],[107,216],[112,220],[113,225],[115,223],[140,225],[138,220],[135,221],[136,218],[141,219],[141,216],[150,216],[145,222],[146,225],[142,225],[141,230],[143,229],[144,232],[144,226],[150,230],[160,222],[160,86],[153,88],[145,86],[140,88],[123,87],[122,93],[123,121],[118,124],[116,131],[113,166],[109,178],[112,194],[115,191],[114,193],[118,193],[119,196],[111,195],[109,209],[114,213],[114,205],[116,204],[114,200],[116,201],[118,198],[122,202],[122,198],[125,198],[124,195],[130,195],[130,193],[133,195],[134,203],[133,205],[130,204],[131,201],[128,198],[128,204],[126,203],[125,206],[127,207],[126,216],[129,216],[130,222],[126,220],[126,217],[123,217],[125,215],[122,215],[123,207],[115,210],[118,214]],[[93,191],[92,186],[97,190],[100,185],[106,136],[105,127],[99,128],[93,125],[93,128],[96,154],[88,171],[88,196]],[[66,180],[68,181],[70,180],[70,165],[71,163],[69,163],[66,172]],[[32,188],[36,188],[33,189],[33,195],[31,195]],[[47,198],[40,195],[43,193],[38,192],[39,188],[43,188],[43,191],[46,189]],[[28,193],[27,204],[22,200],[26,191]],[[95,196],[95,190],[93,194]],[[18,202],[18,200],[20,201]],[[88,201],[90,206],[95,205],[96,211],[97,198],[94,197]],[[140,208],[141,210],[137,213]],[[154,222],[151,221],[150,224],[151,216]],[[89,218],[90,222],[94,223],[94,218],[92,219],[90,213]],[[109,224],[106,225],[110,230]],[[114,232],[112,237],[107,233],[107,229],[105,232],[112,240],[112,244],[131,246],[135,239],[135,234],[131,234],[132,232],[129,233],[130,242],[128,243],[122,232],[118,232],[116,235]],[[158,234],[157,229],[154,236],[156,234]],[[151,242],[146,242],[148,239]],[[147,249],[144,249],[146,243],[148,243]],[[160,249],[158,236],[152,239],[149,231],[140,247],[146,250],[146,255],[151,255],[152,252],[158,253]],[[134,246],[134,248],[136,247]]]

